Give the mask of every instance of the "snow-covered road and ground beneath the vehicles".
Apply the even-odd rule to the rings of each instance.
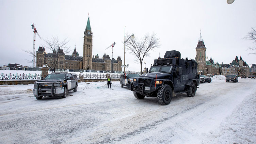
[[[0,143],[256,143],[256,80],[218,77],[167,106],[135,99],[119,82],[83,82],[42,100],[33,84],[0,85]]]

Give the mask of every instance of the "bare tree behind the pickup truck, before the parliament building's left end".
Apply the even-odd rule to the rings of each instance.
[[[44,47],[52,51],[52,53],[49,53],[51,57],[47,58],[48,61],[51,62],[48,64],[48,67],[50,67],[52,72],[55,72],[60,56],[71,52],[71,50],[69,49],[70,46],[67,46],[68,42],[69,40],[67,40],[67,38],[65,38],[63,41],[60,41],[58,36],[52,36],[51,39],[44,39]]]

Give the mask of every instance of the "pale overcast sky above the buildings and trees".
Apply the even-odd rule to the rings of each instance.
[[[236,55],[247,64],[256,63],[256,55],[246,49],[251,41],[242,39],[251,27],[256,27],[256,1],[235,0],[0,0],[0,65],[18,63],[32,66],[31,59],[22,50],[33,51],[35,27],[42,38],[58,35],[68,37],[68,45],[80,56],[83,53],[83,32],[90,16],[93,31],[93,55],[111,57],[114,41],[114,58],[124,60],[124,28],[126,32],[141,38],[145,33],[157,33],[160,48],[151,51],[144,59],[150,67],[154,59],[163,57],[168,50],[178,50],[182,58],[195,59],[196,45],[202,29],[206,56],[214,62],[230,63]],[[36,50],[43,40],[36,35]],[[50,52],[48,49],[47,52]],[[140,70],[133,55],[126,50],[129,70]],[[144,62],[143,61],[143,62]],[[144,65],[143,65],[144,68]]]

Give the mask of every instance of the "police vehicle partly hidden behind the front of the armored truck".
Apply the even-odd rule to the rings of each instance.
[[[121,87],[126,86],[129,90],[131,89],[131,84],[133,82],[134,77],[139,77],[140,75],[137,73],[125,73],[124,75],[120,76],[120,85]]]

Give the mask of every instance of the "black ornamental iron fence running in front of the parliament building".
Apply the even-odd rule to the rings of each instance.
[[[111,77],[111,74],[108,74]],[[120,78],[121,74],[113,74],[112,78]],[[77,78],[80,78],[80,75],[77,74]],[[84,79],[105,79],[107,74],[83,74]],[[41,79],[41,74],[0,74],[0,80],[34,80]]]

